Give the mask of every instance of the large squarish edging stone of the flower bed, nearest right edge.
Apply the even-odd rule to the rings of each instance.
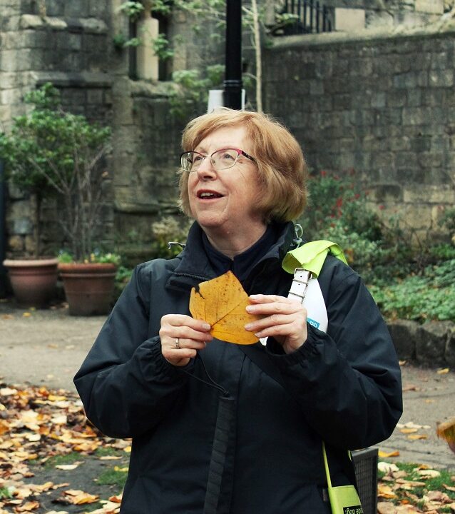
[[[416,330],[416,361],[427,366],[445,364],[446,344],[454,323],[429,321]]]

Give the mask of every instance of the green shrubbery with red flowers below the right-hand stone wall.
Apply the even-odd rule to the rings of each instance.
[[[322,171],[309,181],[310,204],[299,220],[307,241],[339,244],[347,261],[369,285],[384,316],[455,321],[455,247],[421,241],[395,216],[387,223],[369,208],[368,193],[354,173],[340,178]],[[441,223],[449,230],[455,209]],[[454,225],[455,226],[455,225]]]

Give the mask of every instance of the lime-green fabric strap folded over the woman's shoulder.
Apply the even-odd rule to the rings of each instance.
[[[347,264],[342,249],[336,243],[320,240],[310,241],[310,243],[305,243],[299,248],[287,252],[282,261],[282,268],[291,274],[294,274],[295,268],[305,268],[317,278],[327,253],[332,253],[332,256]]]

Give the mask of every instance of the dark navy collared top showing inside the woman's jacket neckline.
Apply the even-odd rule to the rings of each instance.
[[[267,251],[277,242],[282,233],[283,226],[278,223],[271,223],[267,226],[265,233],[262,234],[253,246],[233,259],[225,256],[212,246],[208,237],[203,233],[202,241],[208,260],[215,271],[216,276],[223,275],[227,271],[232,271],[240,282],[250,274],[250,271],[260,259],[265,256]]]

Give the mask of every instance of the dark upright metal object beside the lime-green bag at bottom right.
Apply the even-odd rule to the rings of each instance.
[[[364,514],[377,511],[377,448],[366,448],[352,452],[355,478]]]

